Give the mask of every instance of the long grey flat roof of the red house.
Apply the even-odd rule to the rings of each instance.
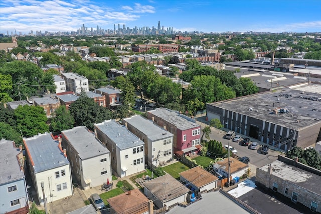
[[[178,111],[173,111],[167,108],[156,108],[155,110],[148,111],[148,113],[171,123],[180,130],[200,128],[200,125],[198,125],[194,119],[180,114]]]

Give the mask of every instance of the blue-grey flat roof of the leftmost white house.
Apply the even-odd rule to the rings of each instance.
[[[69,165],[68,159],[58,148],[58,140],[54,140],[51,133],[38,134],[23,139],[26,155],[29,155],[31,162],[34,163],[36,173]]]

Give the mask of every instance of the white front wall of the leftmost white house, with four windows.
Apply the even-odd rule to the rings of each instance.
[[[56,178],[55,172],[65,170],[65,176],[59,175]],[[44,182],[44,191],[47,197],[47,203],[68,197],[73,194],[72,180],[70,173],[70,165],[57,167],[44,172],[36,174],[36,191],[41,204],[43,204],[43,193],[41,188],[41,182]],[[67,184],[67,189],[63,189],[63,183]],[[57,185],[61,185],[61,190],[57,191]]]

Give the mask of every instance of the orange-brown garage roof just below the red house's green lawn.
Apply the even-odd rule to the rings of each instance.
[[[182,176],[184,179],[186,179],[188,182],[192,183],[198,188],[218,180],[216,176],[202,169],[199,166],[181,172],[180,176]]]

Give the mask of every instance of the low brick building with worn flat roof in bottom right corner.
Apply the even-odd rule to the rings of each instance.
[[[313,212],[321,212],[321,171],[281,156],[272,163],[256,168],[255,184],[300,203]]]

